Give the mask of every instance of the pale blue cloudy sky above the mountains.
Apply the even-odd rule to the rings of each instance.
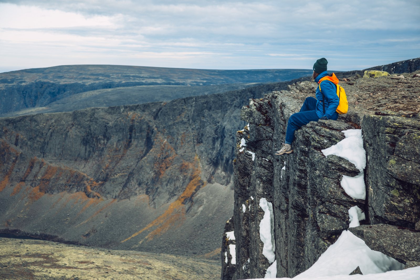
[[[419,0],[0,0],[0,72],[68,64],[355,70],[420,57]]]

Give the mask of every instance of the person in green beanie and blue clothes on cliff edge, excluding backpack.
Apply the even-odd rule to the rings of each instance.
[[[294,140],[294,132],[300,127],[311,121],[336,120],[339,114],[336,112],[339,105],[339,97],[337,96],[337,87],[339,79],[334,73],[328,75],[327,63],[325,58],[318,59],[314,66],[312,81],[319,84],[315,92],[315,98],[306,97],[299,113],[290,116],[286,128],[286,140],[283,147],[276,152],[277,155],[290,154],[293,152],[291,143]],[[325,81],[320,83],[321,81]]]

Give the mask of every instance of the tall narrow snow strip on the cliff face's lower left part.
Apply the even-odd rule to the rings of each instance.
[[[264,211],[264,217],[260,222],[260,239],[264,244],[262,254],[271,264],[276,258],[274,254],[274,251],[276,251],[276,243],[274,242],[273,204],[262,197],[260,199],[260,207]]]

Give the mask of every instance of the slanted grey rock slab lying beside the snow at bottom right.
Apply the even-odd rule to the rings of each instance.
[[[360,225],[349,230],[363,239],[366,245],[375,251],[404,264],[420,263],[420,231],[396,227],[393,225]]]

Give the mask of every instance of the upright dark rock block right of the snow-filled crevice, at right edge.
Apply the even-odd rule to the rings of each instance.
[[[368,115],[362,129],[370,222],[420,230],[420,118]]]

